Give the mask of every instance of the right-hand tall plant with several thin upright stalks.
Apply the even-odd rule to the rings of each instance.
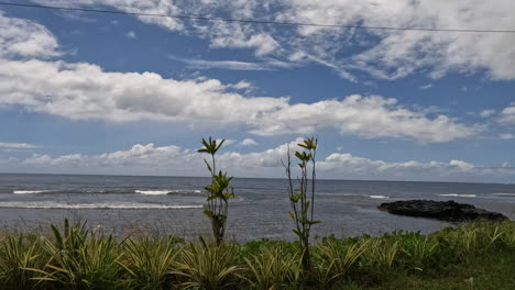
[[[298,144],[304,150],[295,152],[295,157],[299,160],[298,166],[300,167],[300,178],[297,178],[298,188],[294,187],[294,181],[292,179],[292,156],[289,146],[287,150],[287,161],[286,164],[283,163],[288,179],[287,193],[293,210],[288,211],[288,214],[295,223],[293,232],[298,236],[298,242],[303,252],[303,268],[306,271],[310,270],[309,232],[314,224],[320,223],[320,221],[314,220],[317,179],[315,157],[317,144],[318,140],[314,137],[307,138]],[[308,168],[309,166],[310,168]],[[311,179],[309,179],[309,176]]]

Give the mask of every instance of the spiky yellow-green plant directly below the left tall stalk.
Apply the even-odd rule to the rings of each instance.
[[[233,286],[241,268],[237,265],[233,246],[208,245],[204,238],[183,248],[174,274],[182,278],[185,289],[226,289]]]

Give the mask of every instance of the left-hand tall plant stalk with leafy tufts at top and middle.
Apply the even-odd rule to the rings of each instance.
[[[223,241],[223,235],[226,233],[226,222],[229,214],[229,199],[234,198],[234,188],[230,185],[232,177],[227,177],[227,172],[222,172],[221,170],[217,174],[215,155],[224,141],[226,140],[222,140],[217,144],[217,141],[211,140],[211,137],[209,137],[208,141],[202,138],[201,143],[204,147],[197,150],[199,153],[211,155],[211,163],[204,159],[204,163],[211,175],[211,185],[204,188],[208,193],[207,205],[204,210],[204,214],[206,214],[211,221],[212,234],[217,245],[220,245]]]

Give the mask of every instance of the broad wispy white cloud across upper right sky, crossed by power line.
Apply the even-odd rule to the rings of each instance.
[[[68,1],[39,1],[67,4]],[[283,22],[340,25],[509,30],[515,26],[511,0],[271,0],[271,1],[136,1],[77,0],[76,4],[105,4],[121,11],[158,14],[227,15]],[[447,72],[486,71],[491,79],[515,78],[515,38],[506,33],[463,33],[275,26],[220,21],[180,21],[139,16],[206,38],[212,47],[254,49],[259,57],[273,55],[295,63],[315,62],[355,80],[364,70],[383,79],[428,71],[431,78]],[[353,49],[350,49],[353,48]],[[352,53],[350,53],[352,52]]]

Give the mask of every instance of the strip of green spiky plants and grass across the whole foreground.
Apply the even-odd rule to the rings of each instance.
[[[299,242],[187,243],[113,237],[86,224],[0,237],[0,289],[514,289],[515,222],[471,223],[430,235]]]

